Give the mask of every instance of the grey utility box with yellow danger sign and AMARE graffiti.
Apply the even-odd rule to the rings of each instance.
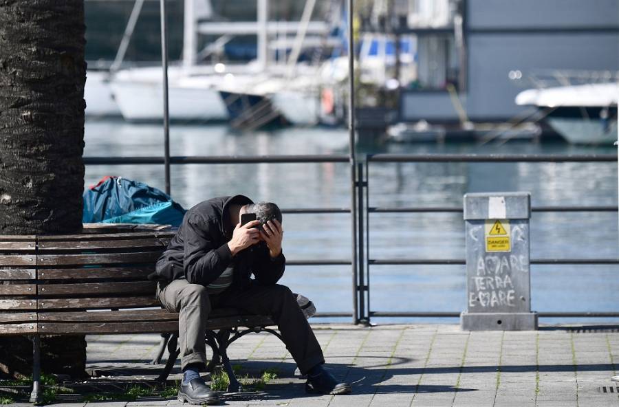
[[[466,331],[537,329],[531,312],[528,192],[464,195]]]

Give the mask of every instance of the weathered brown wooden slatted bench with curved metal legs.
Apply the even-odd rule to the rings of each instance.
[[[30,402],[41,401],[40,336],[162,333],[158,356],[169,358],[158,381],[165,382],[180,353],[178,314],[162,309],[155,282],[146,277],[174,233],[156,225],[85,225],[83,234],[0,236],[0,335],[26,335],[34,348]],[[208,369],[223,363],[228,391],[240,391],[227,347],[250,332],[268,331],[268,316],[213,310],[206,343],[213,349]],[[245,329],[241,329],[245,328]]]

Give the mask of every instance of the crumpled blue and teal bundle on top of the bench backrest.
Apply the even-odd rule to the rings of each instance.
[[[157,188],[122,177],[104,177],[84,191],[82,222],[158,223],[177,228],[185,212]]]

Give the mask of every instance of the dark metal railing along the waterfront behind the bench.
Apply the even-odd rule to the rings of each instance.
[[[369,323],[371,318],[456,318],[460,311],[389,311],[373,310],[370,307],[370,266],[380,265],[465,265],[464,259],[371,259],[371,214],[385,213],[461,213],[455,206],[413,206],[408,208],[378,208],[369,206],[371,190],[369,170],[376,163],[428,163],[428,162],[616,162],[617,156],[605,155],[529,155],[529,154],[430,154],[430,155],[366,155],[362,162],[354,162],[350,155],[263,155],[263,156],[176,156],[169,157],[171,165],[185,164],[296,164],[296,163],[351,163],[352,208],[282,208],[287,214],[351,214],[354,223],[351,241],[351,259],[288,260],[287,265],[349,265],[353,278],[352,312],[323,312],[316,317],[352,318],[355,323]],[[162,165],[164,157],[84,157],[87,165]],[[534,206],[533,212],[616,212],[617,206]],[[464,236],[463,236],[464,239]],[[533,265],[616,265],[619,259],[532,259]],[[619,317],[619,312],[565,311],[539,312],[541,317],[577,318]]]

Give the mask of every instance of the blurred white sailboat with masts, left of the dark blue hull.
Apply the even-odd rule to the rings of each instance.
[[[184,13],[183,60],[180,65],[171,65],[168,71],[170,118],[176,121],[234,120],[219,91],[246,89],[270,79],[276,67],[268,63],[269,36],[297,32],[301,23],[268,21],[268,0],[258,0],[257,21],[213,21],[213,9],[208,0],[186,0]],[[305,25],[305,31],[310,33],[323,34],[327,29],[327,24],[321,21],[307,21]],[[198,34],[220,36],[198,52]],[[248,34],[258,37],[256,61],[243,65],[197,63],[200,58],[221,49],[233,36]],[[126,120],[162,120],[160,67],[120,70],[111,78],[111,89]]]

